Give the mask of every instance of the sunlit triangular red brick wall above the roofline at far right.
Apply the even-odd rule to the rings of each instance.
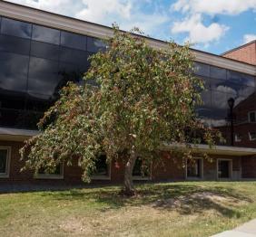
[[[237,50],[227,52],[223,57],[256,65],[256,43],[250,43]]]

